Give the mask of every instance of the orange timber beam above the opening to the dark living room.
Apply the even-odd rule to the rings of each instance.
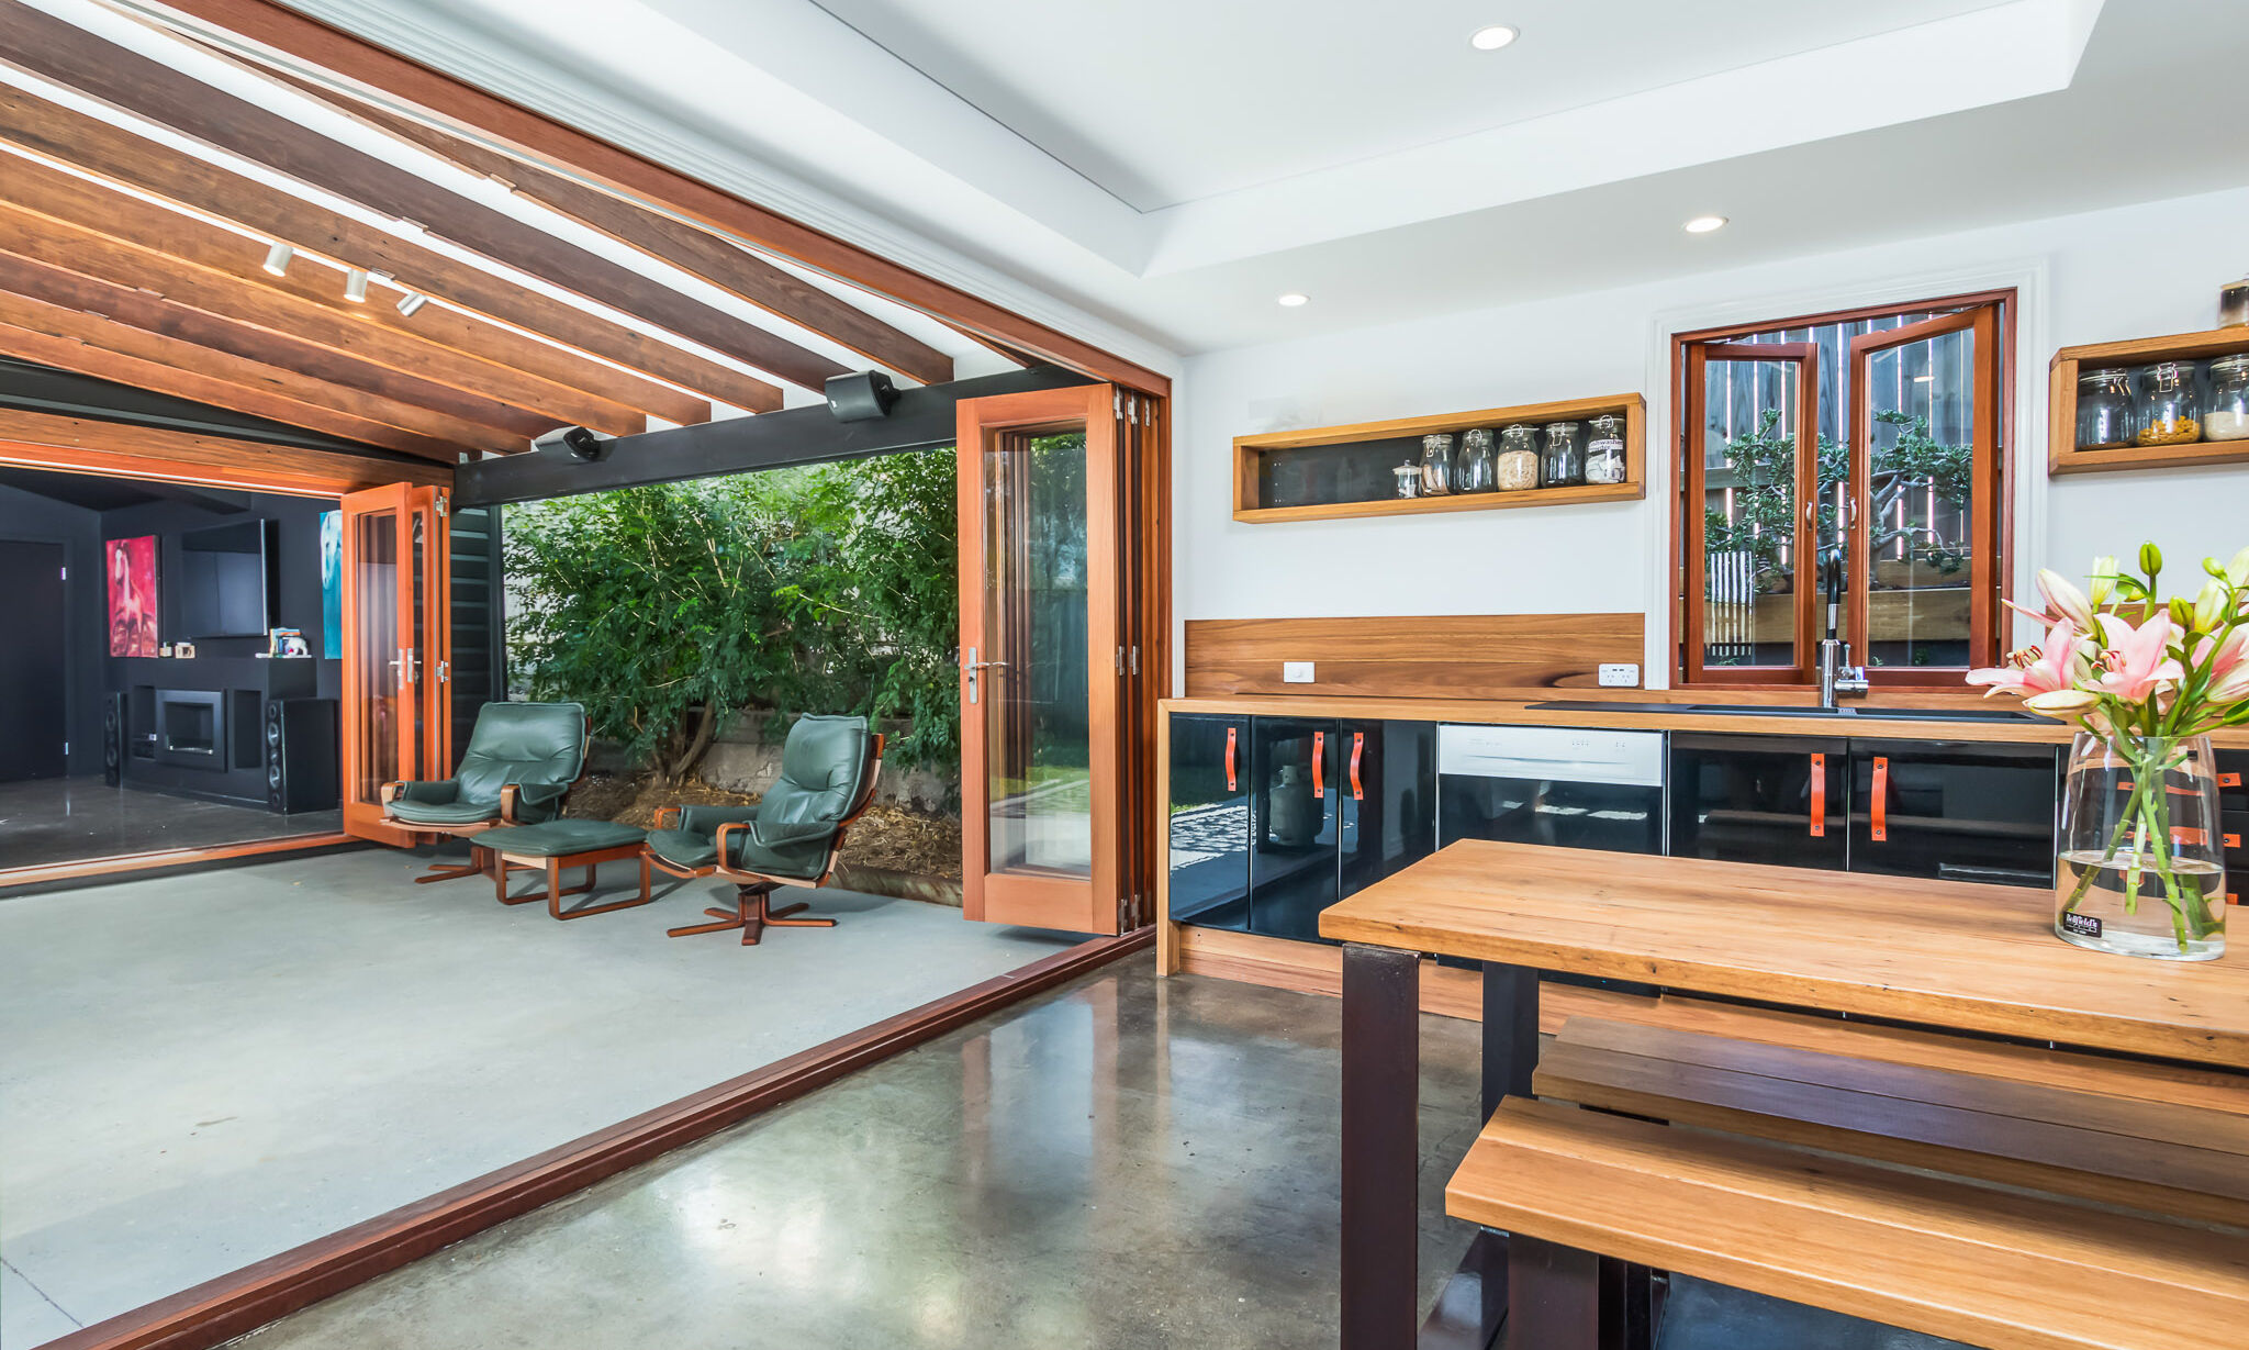
[[[319,497],[400,482],[452,486],[452,470],[439,464],[362,459],[9,407],[0,407],[0,464]]]

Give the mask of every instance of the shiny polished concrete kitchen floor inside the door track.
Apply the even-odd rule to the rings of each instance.
[[[1147,958],[459,1242],[245,1350],[1336,1343],[1338,1004]],[[1475,1026],[1424,1019],[1424,1300]],[[1930,1350],[1682,1280],[1664,1350]]]

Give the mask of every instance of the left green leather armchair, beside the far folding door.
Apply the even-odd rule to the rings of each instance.
[[[587,720],[580,704],[484,704],[454,776],[387,783],[382,817],[423,835],[470,835],[499,824],[551,821],[585,772],[585,747]]]

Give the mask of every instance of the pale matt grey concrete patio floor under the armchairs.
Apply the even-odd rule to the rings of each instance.
[[[825,893],[547,918],[369,848],[0,900],[0,1348],[220,1276],[1075,938]],[[614,866],[603,882],[623,882]]]

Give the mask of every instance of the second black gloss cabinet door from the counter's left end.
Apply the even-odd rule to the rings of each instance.
[[[1318,938],[1340,889],[1343,724],[1250,720],[1250,932]]]

